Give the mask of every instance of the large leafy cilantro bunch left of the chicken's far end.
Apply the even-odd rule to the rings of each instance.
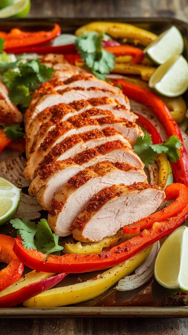
[[[5,58],[6,53],[2,56]],[[52,78],[53,68],[41,63],[39,59],[25,59],[19,57],[15,62],[0,62],[0,73],[3,83],[9,91],[9,98],[13,104],[27,108],[32,100],[32,92],[40,84]]]

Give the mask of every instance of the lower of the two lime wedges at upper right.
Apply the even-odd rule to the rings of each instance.
[[[163,95],[175,97],[188,88],[188,63],[183,56],[174,56],[160,65],[149,79],[149,87]]]

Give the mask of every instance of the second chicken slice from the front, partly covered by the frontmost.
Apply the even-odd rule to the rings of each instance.
[[[70,235],[70,228],[88,201],[105,187],[115,184],[130,185],[134,181],[144,182],[147,177],[143,170],[129,164],[120,164],[118,169],[113,163],[103,161],[93,169],[80,171],[70,178],[52,199],[48,222],[59,236]],[[58,210],[54,210],[58,208]]]

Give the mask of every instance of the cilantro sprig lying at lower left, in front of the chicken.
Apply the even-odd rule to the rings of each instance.
[[[41,219],[38,224],[23,218],[10,220],[17,230],[17,235],[22,238],[22,245],[27,249],[37,249],[43,254],[51,254],[60,251],[63,247],[58,245],[59,236],[52,233],[46,219]]]

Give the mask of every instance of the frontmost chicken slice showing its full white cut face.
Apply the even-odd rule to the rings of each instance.
[[[101,241],[153,213],[164,199],[163,189],[143,182],[106,187],[91,198],[70,230],[78,241]]]

